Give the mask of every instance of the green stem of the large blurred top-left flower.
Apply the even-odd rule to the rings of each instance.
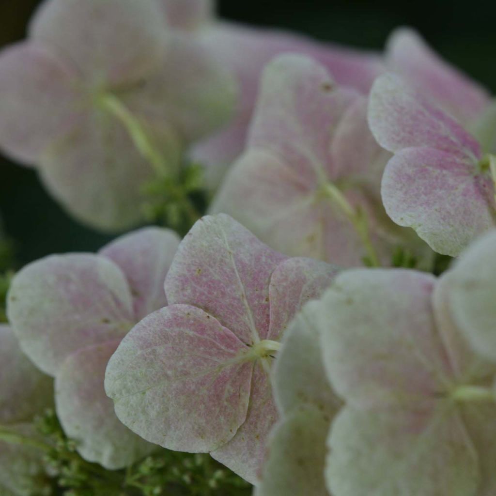
[[[170,178],[172,171],[167,166],[162,153],[157,150],[143,124],[124,103],[112,93],[106,93],[100,97],[99,104],[124,125],[134,146],[141,156],[152,165],[157,176],[159,178]],[[193,225],[201,217],[183,188],[171,187],[168,193],[182,205],[190,225]]]

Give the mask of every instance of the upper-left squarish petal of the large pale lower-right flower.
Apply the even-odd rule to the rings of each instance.
[[[415,405],[448,390],[453,372],[434,323],[434,282],[422,272],[356,269],[319,300],[324,364],[348,404]]]

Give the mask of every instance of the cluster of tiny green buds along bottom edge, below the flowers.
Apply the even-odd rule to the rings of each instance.
[[[53,489],[47,496],[248,496],[251,486],[207,454],[158,448],[152,456],[110,471],[88,463],[62,431],[53,410],[35,420],[46,440],[45,463]]]

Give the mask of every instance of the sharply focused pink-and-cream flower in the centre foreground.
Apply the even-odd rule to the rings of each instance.
[[[273,251],[227,215],[200,219],[167,275],[169,306],[139,322],[109,362],[117,416],[144,439],[210,452],[256,483],[277,419],[269,373],[279,341],[335,273]]]

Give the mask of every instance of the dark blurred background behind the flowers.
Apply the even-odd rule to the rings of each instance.
[[[139,1],[139,0],[137,0]],[[24,37],[37,0],[0,0],[0,48]],[[416,28],[446,60],[496,92],[496,9],[462,0],[219,1],[221,16],[286,28],[320,40],[381,50],[399,25]],[[94,251],[110,237],[72,221],[36,173],[0,155],[0,215],[19,265],[54,252]]]

